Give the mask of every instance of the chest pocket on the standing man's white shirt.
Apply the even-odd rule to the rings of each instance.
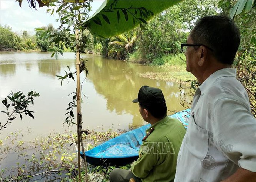
[[[193,117],[189,118],[185,144],[192,156],[201,161],[205,159],[209,149],[208,132],[198,126]]]

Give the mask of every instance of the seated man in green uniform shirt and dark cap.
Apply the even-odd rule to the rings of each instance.
[[[176,172],[178,151],[185,135],[183,124],[167,116],[167,107],[162,91],[158,88],[142,86],[138,98],[142,118],[151,124],[146,130],[139,150],[139,158],[132,163],[131,171],[113,169],[109,174],[112,182],[173,181]]]

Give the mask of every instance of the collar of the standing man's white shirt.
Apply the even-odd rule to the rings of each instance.
[[[210,77],[204,80],[202,85],[200,85],[199,89],[201,91],[201,94],[203,95],[204,92],[209,88],[209,86],[213,85],[213,83],[221,77],[236,77],[236,69],[223,68],[211,74]]]

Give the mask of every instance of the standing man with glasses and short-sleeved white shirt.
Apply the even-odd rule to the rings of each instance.
[[[206,16],[191,31],[187,67],[201,84],[178,154],[177,182],[255,181],[256,119],[231,68],[240,32],[226,16]]]

